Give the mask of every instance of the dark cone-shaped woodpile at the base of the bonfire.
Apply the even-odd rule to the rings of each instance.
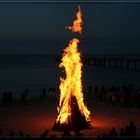
[[[91,129],[90,122],[88,122],[84,115],[81,114],[75,96],[71,97],[70,107],[72,110],[67,123],[61,124],[59,121],[55,122],[53,130],[55,131],[80,131],[83,129]]]

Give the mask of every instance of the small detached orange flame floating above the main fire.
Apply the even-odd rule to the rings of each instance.
[[[72,30],[72,32],[82,33],[82,12],[80,6],[78,6],[78,12],[76,13],[77,19],[74,20],[73,26],[66,26],[66,29]]]

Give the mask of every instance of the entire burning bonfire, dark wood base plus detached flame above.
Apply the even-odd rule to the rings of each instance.
[[[72,27],[66,27],[72,32],[82,32],[82,13],[78,6],[77,19]],[[65,69],[66,78],[60,78],[60,101],[58,116],[53,130],[74,130],[75,132],[91,128],[90,111],[84,104],[82,93],[82,62],[78,52],[79,39],[73,38],[64,50],[59,67]]]

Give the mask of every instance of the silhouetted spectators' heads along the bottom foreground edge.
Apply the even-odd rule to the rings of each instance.
[[[113,137],[113,138],[117,138],[117,137],[137,137],[136,134],[137,128],[135,126],[135,123],[133,121],[130,121],[128,125],[126,125],[125,127],[120,128],[119,131],[117,131],[117,129],[115,127],[113,127],[108,134],[107,133],[103,133],[101,135],[93,135],[90,136],[92,137],[97,137],[97,138],[103,138],[103,137]],[[39,136],[35,136],[35,137],[40,137],[40,138],[54,138],[57,137],[57,135],[50,135],[49,134],[49,130],[45,129],[45,131],[43,133],[41,133]],[[70,133],[70,131],[64,131],[63,134],[61,135],[61,137],[86,137],[88,135],[81,133],[80,131],[75,132],[74,135],[72,135]],[[13,131],[9,131],[9,134],[5,134],[3,133],[2,129],[0,128],[0,138],[1,137],[6,137],[6,138],[13,138],[13,137],[24,137],[24,138],[30,138],[30,137],[34,137],[30,134],[24,134],[23,131],[19,131],[18,134],[14,133]]]

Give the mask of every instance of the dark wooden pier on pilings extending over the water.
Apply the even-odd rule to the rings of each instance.
[[[103,54],[88,57],[88,65],[126,70],[140,70],[140,54]]]

